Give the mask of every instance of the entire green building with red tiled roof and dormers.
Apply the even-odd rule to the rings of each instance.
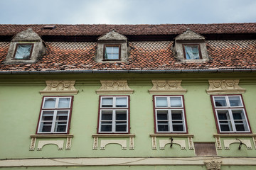
[[[255,23],[0,30],[1,169],[255,169]]]

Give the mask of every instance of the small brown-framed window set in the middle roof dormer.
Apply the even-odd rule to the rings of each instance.
[[[120,45],[104,45],[104,60],[119,60]]]

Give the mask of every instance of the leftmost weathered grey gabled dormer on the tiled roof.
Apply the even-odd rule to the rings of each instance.
[[[26,53],[28,50],[19,50],[21,46],[31,45],[31,50],[29,57]],[[17,52],[20,57],[17,57]],[[22,56],[22,52],[24,57]],[[21,33],[18,33],[12,40],[9,47],[8,54],[6,56],[5,64],[16,64],[16,63],[24,63],[30,64],[37,62],[38,58],[44,55],[46,52],[46,45],[44,44],[41,37],[33,32],[31,28],[27,30],[23,30]]]

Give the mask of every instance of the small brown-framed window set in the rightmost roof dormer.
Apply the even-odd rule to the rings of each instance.
[[[199,44],[183,44],[183,55],[186,60],[202,59]]]

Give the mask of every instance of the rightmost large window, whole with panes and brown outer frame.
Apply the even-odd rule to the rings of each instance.
[[[251,132],[242,95],[211,95],[210,98],[219,133]]]

